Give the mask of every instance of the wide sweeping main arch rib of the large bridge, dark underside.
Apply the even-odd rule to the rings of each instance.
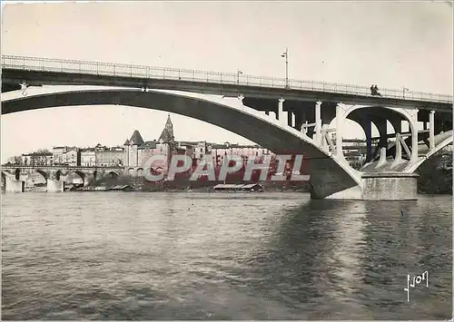
[[[277,104],[277,102],[276,102]],[[226,105],[176,93],[138,90],[85,90],[64,93],[46,93],[5,100],[2,113],[23,112],[58,106],[123,105],[174,112],[202,122],[208,122],[227,131],[235,132],[275,153],[303,153],[311,182],[326,182],[325,173],[331,172],[325,184],[324,198],[360,184],[360,172],[350,168],[347,161],[331,156],[316,146],[307,136],[278,120],[246,106]],[[317,180],[319,178],[320,180]]]

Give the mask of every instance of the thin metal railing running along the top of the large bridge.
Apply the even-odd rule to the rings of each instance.
[[[343,83],[327,83],[290,79],[286,87],[285,79],[252,76],[238,73],[216,73],[187,69],[141,66],[124,63],[98,63],[64,59],[2,55],[2,69],[18,69],[42,72],[84,73],[106,76],[137,77],[146,79],[176,80],[199,83],[221,83],[232,85],[257,86],[265,88],[288,88],[291,90],[345,93],[371,96],[368,86]],[[424,102],[449,102],[452,95],[423,92],[406,92],[405,89],[380,89],[381,97],[407,99]]]

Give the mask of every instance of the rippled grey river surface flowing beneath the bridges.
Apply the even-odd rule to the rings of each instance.
[[[2,198],[2,319],[451,317],[451,196]],[[407,302],[407,274],[426,270]]]

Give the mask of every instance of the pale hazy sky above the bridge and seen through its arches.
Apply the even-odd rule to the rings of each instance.
[[[4,4],[2,54],[289,76],[452,94],[446,2],[116,2]],[[175,139],[250,141],[171,114]],[[59,107],[1,117],[2,162],[56,145],[159,137],[166,112]],[[359,126],[347,136],[363,137]],[[356,129],[356,130],[355,130]]]

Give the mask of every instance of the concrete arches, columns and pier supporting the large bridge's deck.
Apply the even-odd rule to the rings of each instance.
[[[301,94],[298,98],[293,95],[287,100],[285,91],[275,99],[244,97],[241,93],[238,98],[236,104],[229,105],[222,99],[148,89],[66,91],[4,100],[2,114],[100,104],[178,113],[235,132],[275,153],[302,153],[311,175],[314,199],[415,200],[414,172],[431,155],[452,143],[452,102],[450,106],[446,102],[418,102],[416,107],[401,99],[367,98],[362,101],[370,103],[359,105],[355,97],[342,102],[329,94],[318,98],[317,93]],[[276,117],[270,115],[271,111]],[[358,122],[366,133],[368,159],[359,171],[352,169],[344,157],[346,119]],[[333,120],[335,129],[330,128]],[[374,151],[372,122],[380,132]],[[394,128],[394,147],[388,146],[391,134],[387,122]],[[410,132],[401,132],[402,122],[408,123]],[[421,131],[418,122],[424,124]],[[51,173],[48,178],[56,180]]]

